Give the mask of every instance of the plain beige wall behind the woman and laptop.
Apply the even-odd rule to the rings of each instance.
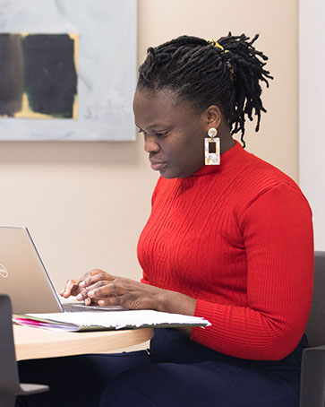
[[[257,47],[276,77],[263,100],[261,133],[247,150],[297,179],[297,13],[295,0],[139,0],[138,57],[182,34],[215,38],[261,33]],[[139,278],[136,243],[157,174],[136,143],[1,143],[0,223],[30,228],[60,288],[92,267]]]

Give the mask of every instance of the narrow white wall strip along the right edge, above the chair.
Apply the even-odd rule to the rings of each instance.
[[[313,212],[316,250],[325,250],[325,2],[299,2],[299,179]]]

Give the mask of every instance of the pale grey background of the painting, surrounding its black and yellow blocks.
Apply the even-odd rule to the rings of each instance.
[[[136,0],[0,0],[0,32],[79,34],[78,119],[0,117],[0,141],[135,140],[136,13]]]

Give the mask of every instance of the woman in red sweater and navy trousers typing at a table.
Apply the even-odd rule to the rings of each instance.
[[[271,76],[256,39],[184,36],[149,48],[133,108],[161,177],[138,244],[142,280],[94,270],[62,292],[212,325],[157,329],[149,354],[21,364],[24,380],[51,386],[53,405],[97,405],[102,393],[101,407],[298,406],[312,214],[292,179],[232,138],[241,132],[244,143],[245,117],[257,116],[258,131],[266,111],[261,82]]]

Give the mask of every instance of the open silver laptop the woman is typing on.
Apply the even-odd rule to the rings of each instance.
[[[9,295],[14,314],[125,309],[61,303],[30,232],[23,226],[0,226],[0,293]]]

